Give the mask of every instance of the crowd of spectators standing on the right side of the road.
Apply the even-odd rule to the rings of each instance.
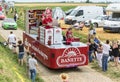
[[[105,72],[108,69],[108,61],[114,61],[114,66],[118,66],[120,61],[120,43],[119,41],[106,40],[102,42],[98,37],[93,25],[89,28],[88,43],[89,46],[89,62],[97,59],[98,65]]]

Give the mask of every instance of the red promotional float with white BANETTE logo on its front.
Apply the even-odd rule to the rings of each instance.
[[[25,47],[29,47],[29,51],[34,53],[43,65],[51,69],[87,65],[88,46],[86,44],[79,40],[69,45],[65,44],[60,27],[53,26],[49,29],[43,25],[37,27],[36,18],[44,16],[45,12],[45,10],[26,11],[26,30],[23,33]]]

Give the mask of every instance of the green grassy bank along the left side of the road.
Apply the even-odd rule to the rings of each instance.
[[[0,42],[4,39],[0,36]],[[17,54],[13,54],[8,47],[0,45],[0,82],[31,82],[27,77],[26,65],[20,66]],[[44,82],[37,75],[36,82]]]

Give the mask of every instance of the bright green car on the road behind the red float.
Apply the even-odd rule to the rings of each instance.
[[[17,23],[14,21],[13,18],[6,18],[2,22],[2,27],[4,29],[15,29],[15,30],[17,30]]]

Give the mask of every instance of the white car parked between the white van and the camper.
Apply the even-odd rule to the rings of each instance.
[[[91,22],[96,26],[96,27],[101,27],[104,26],[104,22],[106,20],[108,20],[109,16],[107,15],[101,15],[101,16],[97,16],[95,19],[91,19]],[[89,26],[90,20],[85,21],[85,26]]]

